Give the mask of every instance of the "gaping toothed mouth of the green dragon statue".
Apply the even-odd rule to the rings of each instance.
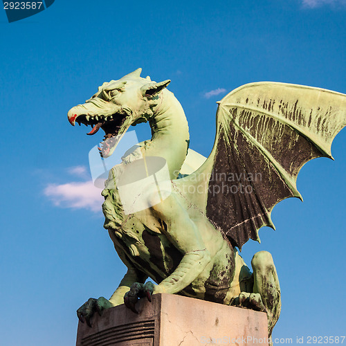
[[[89,136],[96,134],[99,129],[103,129],[104,138],[98,149],[102,157],[108,157],[113,152],[112,149],[115,149],[118,144],[120,136],[127,130],[128,126],[124,126],[127,118],[128,114],[126,113],[114,113],[111,116],[86,116],[82,114],[75,119],[75,122],[78,125],[91,125],[92,129],[88,133]]]

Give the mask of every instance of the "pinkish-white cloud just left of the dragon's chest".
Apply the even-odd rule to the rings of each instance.
[[[101,190],[95,188],[92,181],[74,181],[62,185],[49,184],[44,189],[44,194],[53,201],[55,206],[83,208],[93,212],[99,212],[104,201]]]

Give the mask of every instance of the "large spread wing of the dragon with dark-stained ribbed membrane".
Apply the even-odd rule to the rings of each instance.
[[[203,213],[239,249],[274,228],[271,211],[298,197],[300,168],[331,156],[346,125],[346,95],[309,86],[258,82],[226,95],[217,109],[212,152],[199,169],[174,181],[191,212]]]

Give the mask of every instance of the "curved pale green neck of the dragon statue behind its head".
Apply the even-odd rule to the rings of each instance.
[[[181,170],[188,153],[189,128],[183,107],[173,93],[163,90],[149,118],[152,139],[145,145],[145,156],[161,156],[167,161],[171,179]]]

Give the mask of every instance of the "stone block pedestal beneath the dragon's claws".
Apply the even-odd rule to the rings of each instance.
[[[77,346],[268,345],[266,313],[180,295],[141,299],[133,313],[124,304],[79,322]]]

